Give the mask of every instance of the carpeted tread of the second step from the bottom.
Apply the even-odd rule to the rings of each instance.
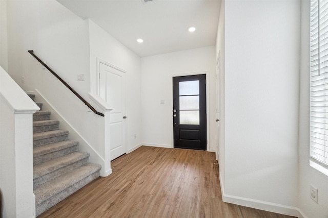
[[[33,166],[33,178],[39,178],[46,174],[56,171],[59,168],[68,166],[79,160],[89,158],[90,154],[88,152],[74,152],[63,157],[58,157],[53,160],[49,160],[44,163],[40,163]]]

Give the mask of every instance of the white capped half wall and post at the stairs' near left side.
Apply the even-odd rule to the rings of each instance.
[[[39,110],[0,67],[0,199],[3,217],[35,217],[32,114]]]

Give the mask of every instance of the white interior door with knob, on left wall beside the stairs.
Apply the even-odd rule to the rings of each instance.
[[[113,108],[110,112],[111,160],[126,149],[126,79],[125,72],[99,62],[99,96]]]

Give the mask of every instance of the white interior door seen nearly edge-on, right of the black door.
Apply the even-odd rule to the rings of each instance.
[[[216,159],[220,157],[220,53],[216,64]]]

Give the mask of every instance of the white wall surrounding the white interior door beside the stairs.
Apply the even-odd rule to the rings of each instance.
[[[127,71],[127,152],[131,152],[141,145],[140,58],[92,20],[88,20],[88,22],[90,29],[91,92],[97,94],[95,86],[97,82],[97,58]]]

